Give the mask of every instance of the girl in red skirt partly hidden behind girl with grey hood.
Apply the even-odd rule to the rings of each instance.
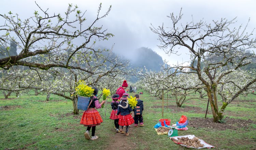
[[[119,124],[118,124],[118,120],[119,120],[120,115],[118,115],[118,116],[116,115],[118,104],[119,104],[118,97],[119,97],[118,94],[114,94],[112,96],[112,102],[111,102],[112,112],[111,112],[110,117],[109,117],[110,119],[114,120],[116,132],[120,132],[119,131]]]

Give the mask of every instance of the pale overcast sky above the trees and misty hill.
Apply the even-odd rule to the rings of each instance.
[[[1,14],[12,11],[21,18],[33,16],[34,10],[39,10],[35,0],[1,0]],[[95,18],[98,6],[102,3],[102,13],[110,5],[110,14],[99,21],[104,29],[114,34],[108,41],[99,42],[100,46],[111,48],[114,44],[114,52],[126,54],[140,47],[147,47],[158,53],[169,64],[181,63],[189,59],[189,55],[182,53],[180,56],[166,55],[157,45],[157,35],[150,30],[151,23],[154,27],[170,24],[167,15],[174,13],[179,15],[182,7],[183,19],[190,22],[205,19],[221,18],[233,19],[237,17],[237,26],[246,25],[249,18],[251,21],[248,30],[256,27],[256,1],[255,0],[36,0],[43,10],[48,12],[63,13],[67,10],[68,3],[76,4],[81,11],[87,10],[86,17]],[[1,20],[0,20],[1,21]],[[171,25],[170,25],[171,26]],[[169,26],[169,27],[170,27]],[[136,55],[136,52],[134,52]]]

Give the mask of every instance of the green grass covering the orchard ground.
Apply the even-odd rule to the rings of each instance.
[[[140,91],[138,91],[140,92]],[[134,96],[134,94],[132,94]],[[170,118],[171,123],[179,121],[181,115],[191,117],[204,117],[204,114],[189,112],[172,112],[165,108],[164,116],[161,115],[161,100],[152,97],[144,92],[140,95],[144,101],[143,119],[145,126],[133,128],[131,134],[125,142],[131,145],[134,150],[185,150],[187,148],[179,146],[171,141],[166,135],[157,135],[154,126],[161,118]],[[256,118],[255,96],[248,95],[250,102],[239,100],[234,104],[227,106],[225,117],[240,119]],[[72,101],[51,95],[49,101],[46,96],[22,95],[18,99],[16,95],[3,99],[0,95],[0,149],[12,148],[12,150],[92,150],[109,149],[114,143],[116,133],[114,132],[113,120],[109,119],[111,107],[108,103],[106,118],[104,118],[104,109],[98,109],[103,123],[96,127],[97,140],[86,140],[84,132],[86,128],[80,125],[82,111],[79,115],[71,115],[73,107]],[[166,103],[166,101],[165,101]],[[175,105],[175,100],[169,99],[168,105]],[[196,106],[205,109],[207,102],[199,100],[189,100],[184,104],[187,106]],[[238,106],[239,105],[239,106]],[[4,106],[8,106],[5,109]],[[209,107],[210,109],[210,107]],[[238,114],[238,115],[236,115]],[[211,117],[208,115],[208,117]],[[194,134],[207,143],[215,146],[216,150],[244,150],[256,148],[256,124],[252,125],[252,130],[225,130],[189,127],[187,131],[179,131],[179,135]],[[112,138],[111,138],[112,137]],[[242,140],[241,142],[241,139]],[[122,141],[123,142],[123,141]],[[121,145],[121,144],[120,144]],[[116,148],[118,149],[118,148]]]

